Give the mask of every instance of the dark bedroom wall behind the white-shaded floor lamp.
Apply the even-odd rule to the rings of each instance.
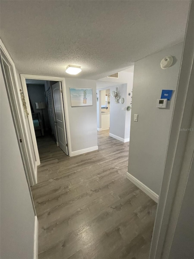
[[[42,116],[42,112],[44,115],[44,120],[45,120],[45,128],[46,130],[49,129],[50,127],[50,121],[49,121],[49,112],[48,109],[36,109],[36,102],[46,102],[46,97],[45,97],[45,84],[27,84],[27,89],[28,89],[28,95],[32,103],[32,107],[34,109],[35,113],[40,113]]]

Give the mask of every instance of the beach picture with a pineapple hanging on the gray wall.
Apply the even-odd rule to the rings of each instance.
[[[71,107],[92,106],[92,88],[69,88]]]

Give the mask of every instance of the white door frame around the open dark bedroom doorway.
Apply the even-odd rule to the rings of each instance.
[[[36,79],[36,80],[47,80],[47,81],[59,81],[59,82],[61,82],[62,93],[63,93],[62,94],[62,96],[63,96],[62,102],[63,102],[63,109],[64,109],[64,115],[65,115],[64,127],[66,128],[69,156],[72,156],[65,78],[63,78],[63,77],[51,77],[51,76],[38,76],[38,75],[30,75],[30,74],[20,74],[20,78],[21,78],[21,82],[22,82],[23,92],[24,92],[24,95],[26,96],[26,106],[27,106],[27,109],[28,109],[28,112],[29,112],[28,120],[29,120],[30,130],[31,130],[31,134],[32,134],[32,141],[33,141],[33,145],[34,145],[35,156],[38,159],[40,159],[40,158],[39,158],[38,146],[37,146],[37,142],[36,142],[35,130],[34,130],[34,125],[33,125],[33,120],[32,120],[32,113],[31,113],[30,103],[29,103],[29,98],[28,98],[28,90],[27,90],[27,85],[26,85],[25,80],[26,79]],[[66,125],[65,125],[65,122],[66,122]]]

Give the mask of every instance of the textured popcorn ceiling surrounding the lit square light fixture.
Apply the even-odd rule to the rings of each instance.
[[[1,39],[20,73],[99,79],[184,38],[189,1],[0,1]]]

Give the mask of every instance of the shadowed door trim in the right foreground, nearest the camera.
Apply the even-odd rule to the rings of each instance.
[[[173,107],[173,118],[171,123],[166,162],[162,179],[161,192],[157,207],[156,220],[152,234],[152,243],[149,259],[168,259],[169,248],[172,244],[173,233],[176,225],[170,226],[172,213],[174,219],[178,217],[184,191],[178,190],[178,186],[186,186],[187,178],[181,178],[181,169],[186,148],[189,131],[179,131],[179,128],[190,128],[194,90],[194,2],[190,2],[190,13],[187,21],[187,30],[184,40],[181,69],[179,72],[176,100]],[[193,136],[192,136],[193,137]],[[190,148],[189,152],[193,152]],[[189,153],[189,156],[192,155]],[[186,163],[188,165],[190,161]],[[185,173],[188,173],[187,171]],[[176,193],[178,190],[178,193]],[[178,196],[179,199],[178,199]],[[178,199],[178,200],[177,200]],[[166,256],[166,257],[165,257]]]

